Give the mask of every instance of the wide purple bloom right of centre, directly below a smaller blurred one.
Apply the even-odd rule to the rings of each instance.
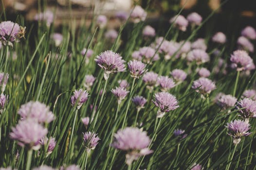
[[[216,88],[216,85],[210,79],[201,77],[193,82],[192,88],[196,89],[197,92],[205,95],[210,94],[211,91]]]

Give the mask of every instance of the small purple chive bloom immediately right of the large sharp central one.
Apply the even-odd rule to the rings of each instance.
[[[133,60],[128,62],[128,68],[131,73],[131,77],[139,78],[146,71],[146,64],[141,61]]]

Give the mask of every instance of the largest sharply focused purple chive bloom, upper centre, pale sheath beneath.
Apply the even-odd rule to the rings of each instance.
[[[125,71],[125,60],[113,51],[104,51],[96,56],[96,63],[105,70],[105,79],[108,79],[110,73]]]

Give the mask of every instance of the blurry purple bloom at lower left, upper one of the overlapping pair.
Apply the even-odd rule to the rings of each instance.
[[[34,119],[38,123],[50,123],[55,119],[50,107],[41,102],[27,102],[20,106],[18,114],[22,119]]]

